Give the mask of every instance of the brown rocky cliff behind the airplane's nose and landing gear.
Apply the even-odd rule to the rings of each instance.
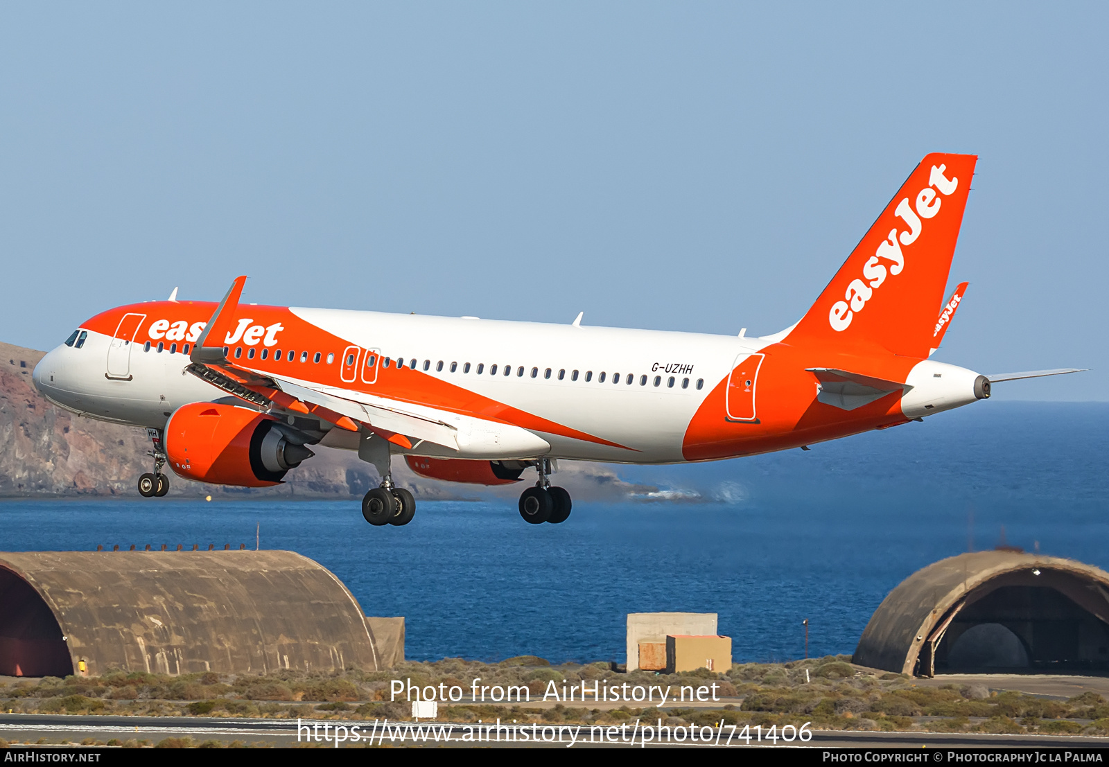
[[[138,495],[139,474],[153,467],[146,430],[81,418],[48,402],[31,381],[43,354],[0,342],[0,495]],[[357,454],[314,449],[316,457],[276,488],[201,484],[172,474],[170,494],[350,498],[377,484],[377,472]],[[508,499],[525,487],[487,489],[427,480],[413,474],[403,460],[394,461],[393,473],[398,484],[425,499]],[[581,500],[619,500],[654,490],[628,484],[608,467],[588,463],[563,462],[558,479]]]

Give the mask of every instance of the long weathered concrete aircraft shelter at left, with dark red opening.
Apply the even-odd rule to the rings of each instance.
[[[373,620],[291,551],[0,553],[3,675],[380,671]]]

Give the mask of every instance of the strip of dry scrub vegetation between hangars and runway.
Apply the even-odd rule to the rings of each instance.
[[[849,656],[828,656],[785,664],[735,664],[726,673],[706,669],[682,674],[621,674],[608,663],[551,665],[521,656],[498,664],[461,658],[403,663],[386,672],[349,669],[340,674],[279,671],[271,674],[157,674],[112,672],[99,677],[68,676],[0,684],[4,710],[42,714],[135,716],[220,716],[366,720],[411,718],[404,695],[390,700],[391,682],[414,686],[523,686],[530,702],[462,700],[439,705],[439,722],[620,724],[635,719],[663,724],[743,727],[783,725],[813,729],[933,730],[978,733],[1109,734],[1109,702],[1095,693],[1069,699],[1049,698],[983,686],[932,686],[902,674],[853,666]],[[586,682],[672,687],[663,708],[645,703],[548,700],[554,683],[561,694]],[[716,685],[721,700],[690,706],[674,699],[682,686]],[[457,693],[456,693],[457,695]],[[658,698],[655,698],[657,700]],[[144,744],[136,744],[144,745]],[[150,744],[153,745],[153,744]],[[179,744],[166,744],[179,745]],[[185,744],[180,745],[202,745]],[[203,745],[216,745],[214,742]]]

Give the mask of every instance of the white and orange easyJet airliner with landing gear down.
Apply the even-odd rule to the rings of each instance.
[[[403,456],[424,477],[487,485],[538,481],[528,522],[560,523],[559,460],[711,461],[919,421],[994,384],[1077,372],[984,376],[930,359],[967,284],[944,301],[976,155],[929,154],[816,303],[781,333],[749,337],[430,317],[241,303],[119,306],[83,323],[34,368],[38,389],[82,416],[145,427],[153,472],[269,487],[313,457],[357,451],[381,478],[362,502],[404,525],[416,502],[394,484]]]

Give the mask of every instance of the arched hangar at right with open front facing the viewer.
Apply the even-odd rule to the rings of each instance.
[[[1109,668],[1109,573],[1014,551],[942,560],[889,592],[854,662],[917,676]]]

